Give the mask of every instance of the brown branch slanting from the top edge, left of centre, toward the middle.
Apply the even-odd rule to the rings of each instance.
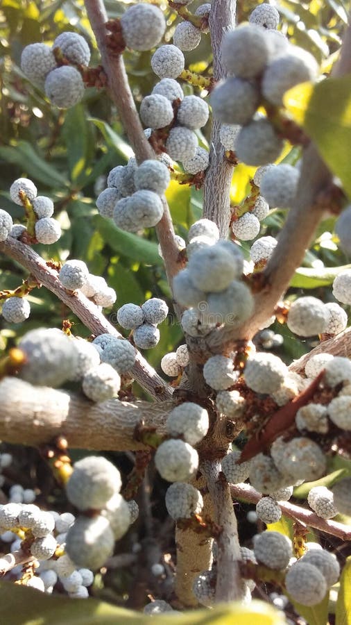
[[[135,151],[135,157],[139,163],[147,158],[155,158],[155,153],[144,135],[142,124],[135,108],[123,58],[121,55],[111,51],[107,46],[108,31],[105,28],[105,22],[108,21],[108,16],[103,6],[103,0],[85,0],[85,8],[101,53],[103,69],[105,69],[105,73],[108,76],[110,95],[117,106],[123,128]],[[173,276],[178,274],[180,269],[178,265],[179,252],[174,238],[169,206],[164,197],[162,203],[164,214],[156,226],[156,232],[162,248],[166,274],[171,285]]]

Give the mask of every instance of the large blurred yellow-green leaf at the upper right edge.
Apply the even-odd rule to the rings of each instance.
[[[303,83],[286,92],[286,108],[316,142],[333,174],[351,197],[351,76]]]

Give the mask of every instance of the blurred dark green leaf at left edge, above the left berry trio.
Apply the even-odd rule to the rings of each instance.
[[[27,141],[19,141],[16,146],[0,147],[0,158],[7,163],[19,165],[27,176],[34,181],[40,181],[46,187],[67,187],[68,181],[53,165],[49,165],[37,154],[35,149]]]

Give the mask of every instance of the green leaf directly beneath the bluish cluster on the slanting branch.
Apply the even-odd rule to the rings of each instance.
[[[158,254],[157,243],[130,232],[124,232],[117,228],[110,219],[104,219],[100,215],[94,217],[94,223],[103,240],[117,253],[138,260],[140,263],[146,263],[146,265],[162,265],[163,261]]]

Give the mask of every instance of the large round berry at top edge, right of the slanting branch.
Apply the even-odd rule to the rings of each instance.
[[[132,50],[151,50],[163,37],[166,22],[162,11],[147,3],[129,7],[121,17],[123,39]]]

